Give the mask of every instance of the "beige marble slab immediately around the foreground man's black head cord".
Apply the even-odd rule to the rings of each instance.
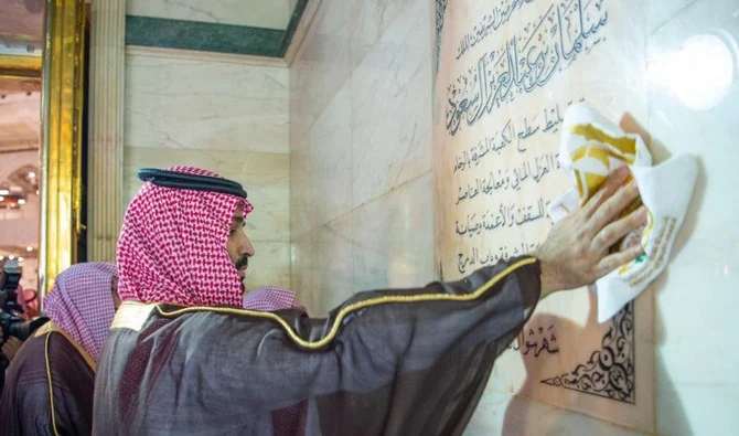
[[[124,162],[124,208],[141,185],[137,177],[139,169],[174,164],[200,167],[244,185],[255,205],[255,211],[246,222],[246,233],[253,241],[290,241],[289,155],[126,148]]]

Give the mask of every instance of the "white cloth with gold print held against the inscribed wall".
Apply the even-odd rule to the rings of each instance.
[[[598,322],[604,322],[636,298],[667,265],[693,195],[697,161],[692,155],[681,155],[653,167],[639,135],[623,132],[587,104],[572,105],[565,115],[559,160],[574,189],[550,203],[554,222],[581,206],[608,174],[623,164],[630,167],[641,203],[649,211],[646,224],[619,243],[620,249],[639,243],[644,255],[596,283]]]

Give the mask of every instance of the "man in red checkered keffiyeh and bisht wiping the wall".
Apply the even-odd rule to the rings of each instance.
[[[615,172],[536,256],[457,283],[361,293],[329,318],[243,310],[246,193],[143,171],[118,243],[124,300],[99,362],[96,435],[457,435],[539,298],[641,254],[609,254],[643,210]]]

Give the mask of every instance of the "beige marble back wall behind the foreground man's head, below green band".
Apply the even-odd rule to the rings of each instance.
[[[249,290],[290,286],[288,70],[243,56],[128,47],[124,204],[142,167],[188,164],[244,184],[255,211]]]

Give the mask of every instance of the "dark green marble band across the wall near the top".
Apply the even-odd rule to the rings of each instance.
[[[308,1],[298,1],[286,30],[126,15],[126,45],[282,57]]]

